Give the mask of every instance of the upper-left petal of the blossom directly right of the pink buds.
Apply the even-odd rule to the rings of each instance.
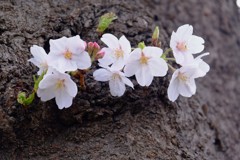
[[[112,34],[106,33],[102,36],[101,41],[111,49],[119,49],[119,42],[117,37]]]

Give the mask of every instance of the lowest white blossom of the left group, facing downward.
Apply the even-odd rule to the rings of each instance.
[[[55,98],[59,109],[68,108],[77,95],[77,85],[70,75],[54,70],[53,74],[45,75],[39,83],[37,95],[44,102]]]

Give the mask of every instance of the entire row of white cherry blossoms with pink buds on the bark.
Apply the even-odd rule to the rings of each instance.
[[[71,79],[72,72],[87,70],[97,60],[99,69],[93,72],[97,81],[108,82],[112,96],[122,96],[126,85],[134,89],[129,79],[132,76],[140,86],[150,86],[154,77],[164,77],[168,69],[173,75],[168,87],[168,97],[175,101],[179,95],[191,97],[196,92],[195,79],[203,77],[210,67],[202,60],[204,53],[194,58],[204,49],[204,40],[192,35],[193,27],[183,25],[172,33],[170,47],[174,58],[168,57],[169,49],[163,53],[158,44],[158,33],[154,33],[154,46],[140,43],[132,49],[125,36],[119,39],[112,34],[103,34],[101,41],[104,48],[96,42],[86,43],[79,36],[62,37],[50,40],[50,52],[47,54],[42,47],[32,46],[33,58],[29,59],[39,68],[38,75],[44,75],[37,89],[42,101],[55,98],[59,109],[72,105],[77,95],[76,83]],[[174,60],[179,69],[173,68],[168,61]]]

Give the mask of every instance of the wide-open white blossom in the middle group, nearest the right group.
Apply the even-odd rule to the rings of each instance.
[[[124,67],[127,77],[136,76],[141,86],[149,86],[153,77],[163,77],[167,74],[167,63],[161,58],[162,49],[158,47],[144,47],[135,49]]]

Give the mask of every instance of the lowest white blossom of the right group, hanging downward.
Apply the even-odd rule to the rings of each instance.
[[[175,70],[168,87],[168,98],[174,102],[179,95],[191,97],[196,93],[195,78],[197,77],[195,66],[184,66]]]

